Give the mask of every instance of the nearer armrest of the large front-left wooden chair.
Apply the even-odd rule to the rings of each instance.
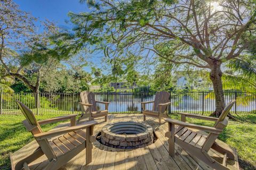
[[[55,137],[57,135],[65,134],[68,132],[73,132],[76,130],[89,128],[90,126],[96,125],[97,123],[98,122],[96,122],[96,121],[90,121],[90,122],[86,122],[83,125],[71,126],[71,127],[65,128],[65,129],[52,130],[52,131],[48,131],[48,132],[38,133],[38,134],[35,134],[34,137],[36,140],[43,140],[43,139]]]

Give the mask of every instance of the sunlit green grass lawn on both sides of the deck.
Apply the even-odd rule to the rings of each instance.
[[[38,115],[37,120],[46,120],[62,115]],[[180,120],[180,116],[171,115]],[[243,115],[243,118],[251,123],[229,121],[227,128],[221,133],[219,139],[235,147],[238,150],[239,166],[243,169],[256,169],[256,114]],[[30,132],[27,132],[23,124],[23,115],[0,115],[0,169],[10,169],[9,153],[15,152],[34,140]],[[210,121],[187,119],[190,123],[210,125]],[[48,131],[58,123],[42,125],[44,131]]]

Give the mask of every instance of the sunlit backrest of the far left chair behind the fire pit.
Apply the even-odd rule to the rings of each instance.
[[[82,103],[92,104],[92,112],[97,112],[98,111],[97,107],[96,107],[95,96],[94,96],[93,92],[82,91],[80,93],[80,100],[81,100]],[[84,109],[85,112],[87,112],[89,107],[83,106],[83,109]]]

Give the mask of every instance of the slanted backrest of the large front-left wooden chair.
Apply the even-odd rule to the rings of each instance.
[[[37,133],[42,133],[42,129],[41,126],[38,124],[33,112],[23,103],[21,103],[19,100],[16,100],[16,103],[18,105],[18,107],[20,108],[22,114],[26,117],[27,122],[31,125],[31,126],[37,126],[36,129],[34,129],[33,131],[31,131],[32,134],[37,134]],[[26,126],[26,124],[25,124]],[[28,129],[28,127],[26,127]]]

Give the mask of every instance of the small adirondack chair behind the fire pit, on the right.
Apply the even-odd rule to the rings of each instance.
[[[158,117],[159,123],[161,123],[162,117],[165,116],[164,112],[167,109],[167,106],[171,104],[169,102],[170,94],[166,91],[159,91],[156,93],[154,101],[143,101],[141,102],[141,108],[143,113],[143,120],[146,121],[146,115],[151,117]],[[146,104],[153,104],[153,109],[151,111],[146,110]],[[166,117],[166,116],[165,116]]]

